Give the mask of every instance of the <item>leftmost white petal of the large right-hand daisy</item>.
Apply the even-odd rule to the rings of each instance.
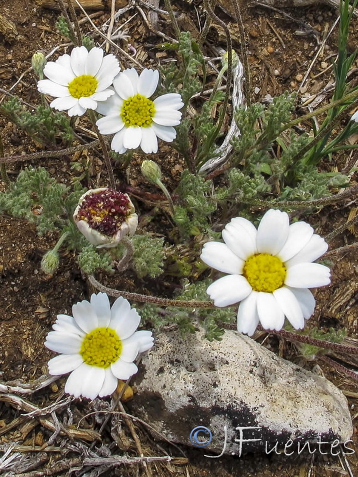
[[[241,275],[244,262],[221,242],[206,242],[200,259],[215,270]]]

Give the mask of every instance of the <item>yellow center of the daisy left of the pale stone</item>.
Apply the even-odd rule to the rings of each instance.
[[[121,353],[122,342],[111,328],[96,328],[87,333],[80,350],[84,363],[99,368],[108,368]]]

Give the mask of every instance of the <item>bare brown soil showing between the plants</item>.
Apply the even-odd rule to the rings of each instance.
[[[222,2],[225,4],[225,2]],[[226,2],[227,3],[227,2]],[[182,13],[181,28],[190,29],[193,35],[197,31],[197,14],[202,20],[200,1],[177,1],[175,7]],[[194,8],[193,8],[194,7]],[[144,9],[145,10],[145,9]],[[146,10],[145,10],[146,11]],[[282,13],[263,7],[250,8],[245,12],[244,24],[249,38],[250,63],[252,67],[253,88],[260,88],[257,99],[263,98],[265,94],[272,96],[280,94],[285,90],[298,88],[300,76],[311,62],[317,41],[322,39],[323,33],[331,28],[337,18],[337,12],[331,8],[318,5],[300,9],[285,10],[295,20],[287,19]],[[127,12],[119,20],[124,23],[135,12],[136,17],[131,19],[124,31],[129,35],[129,42],[137,49],[137,59],[144,62],[146,66],[155,66],[158,61],[163,61],[168,57],[166,52],[162,52],[154,47],[161,40],[158,36],[149,32],[143,18],[137,10]],[[232,19],[218,10],[219,15],[225,21]],[[19,0],[12,2],[0,0],[0,14],[14,22],[17,33],[8,32],[5,36],[0,35],[0,79],[1,88],[9,90],[18,81],[20,76],[31,66],[31,57],[36,50],[50,52],[54,46],[63,44],[63,38],[55,31],[55,21],[58,12],[44,10],[33,0]],[[109,12],[105,11],[99,18],[95,19],[97,26],[101,26],[109,18]],[[312,31],[310,34],[299,36],[295,30],[302,30],[302,21],[307,23]],[[274,28],[272,28],[272,25]],[[88,24],[84,23],[83,31],[88,30]],[[237,30],[235,25],[230,25],[234,38],[234,47],[238,49]],[[168,24],[159,15],[158,30],[172,35]],[[274,32],[274,30],[276,32]],[[357,31],[351,28],[352,50],[357,44]],[[280,40],[280,38],[281,40]],[[98,41],[98,38],[95,38]],[[320,91],[329,80],[332,79],[332,69],[328,69],[329,55],[336,52],[337,30],[331,35],[326,43],[326,48],[322,57],[317,61],[312,69],[306,92],[313,93]],[[222,32],[214,25],[211,28],[209,41],[216,46],[225,47]],[[283,43],[282,43],[283,42]],[[99,43],[97,43],[99,44]],[[126,43],[121,46],[126,48]],[[208,55],[210,55],[209,45]],[[63,53],[63,48],[60,52]],[[58,53],[54,55],[56,57]],[[327,63],[327,64],[325,64]],[[126,66],[132,66],[126,63]],[[210,78],[209,78],[210,80]],[[30,104],[38,104],[39,97],[35,88],[35,77],[32,72],[27,72],[12,90],[21,97],[22,100]],[[300,92],[304,94],[305,91]],[[4,142],[5,154],[15,155],[21,153],[31,153],[37,150],[37,145],[21,129],[4,118],[0,118],[2,126],[1,135]],[[83,124],[83,123],[82,123]],[[88,136],[87,136],[88,137]],[[168,153],[170,154],[168,155]],[[105,183],[105,173],[100,177],[97,175],[101,171],[102,162],[95,153],[90,153],[92,160],[91,184],[96,186]],[[71,180],[74,172],[69,168],[71,158],[64,158],[63,161],[53,159],[40,160],[36,165],[48,167],[49,172],[59,180],[67,183]],[[182,165],[179,163],[172,149],[164,146],[156,156],[156,160],[163,169],[164,179],[170,190],[174,189]],[[144,187],[149,192],[156,193],[148,184],[142,183],[138,173],[140,156],[134,158],[129,185],[132,187]],[[328,167],[338,167],[341,170],[346,164],[344,154],[337,156],[335,162]],[[9,166],[11,177],[15,178],[22,167],[27,166],[26,162],[18,162]],[[35,165],[35,164],[34,164]],[[124,171],[118,169],[116,174],[123,183],[126,176]],[[84,184],[86,186],[87,184]],[[1,185],[0,185],[1,187]],[[142,212],[150,210],[147,205],[138,202],[138,207]],[[340,207],[326,207],[317,214],[311,216],[309,221],[318,225],[318,233],[323,235],[329,233],[332,224],[340,225],[347,220],[349,204]],[[70,312],[72,304],[88,296],[88,288],[81,278],[81,273],[77,269],[74,256],[70,252],[63,252],[60,269],[54,276],[45,276],[40,270],[42,255],[51,249],[56,241],[56,237],[48,234],[39,237],[33,224],[24,220],[2,216],[0,228],[0,370],[2,381],[23,380],[25,382],[39,377],[45,371],[47,360],[51,357],[46,348],[43,347],[43,339],[49,331],[57,313]],[[157,220],[165,220],[164,215],[157,216]],[[156,224],[158,225],[158,224]],[[155,226],[151,224],[150,227]],[[166,224],[159,224],[160,233],[166,234]],[[158,232],[158,228],[156,229]],[[331,249],[352,243],[354,236],[346,231],[341,234],[331,244]],[[129,277],[130,278],[130,277]],[[102,277],[106,282],[107,277]],[[353,339],[357,339],[357,280],[358,280],[358,259],[353,252],[339,257],[335,261],[333,268],[332,284],[316,293],[317,308],[312,323],[327,329],[330,326],[335,328],[346,328],[347,334]],[[113,288],[126,287],[130,291],[153,292],[158,286],[162,293],[170,294],[171,288],[175,284],[168,284],[167,281],[158,280],[154,284],[150,281],[135,283],[130,279],[111,278]],[[159,292],[158,291],[158,292]],[[262,339],[262,337],[260,338]],[[280,340],[269,337],[265,341],[265,346],[275,352],[279,352],[285,358],[295,360],[308,369],[314,363],[303,363],[297,357],[295,347]],[[334,382],[344,393],[356,393],[355,397],[348,397],[352,416],[357,419],[358,395],[354,382],[337,373],[333,368],[327,367],[319,362],[324,374]],[[354,363],[352,363],[354,364]],[[357,364],[357,363],[356,363]],[[58,380],[57,386],[51,389],[39,391],[31,395],[32,403],[43,407],[53,403],[60,395],[63,387],[63,379]],[[56,389],[57,388],[57,389]],[[60,390],[59,390],[60,389]],[[25,396],[26,397],[26,396]],[[87,404],[72,404],[74,412],[74,422],[90,412],[92,409]],[[1,427],[8,425],[14,418],[20,415],[15,409],[0,402],[0,435]],[[140,416],[139,416],[140,417]],[[357,420],[354,421],[353,447],[356,453],[347,456],[353,474],[358,472],[358,429]],[[87,419],[84,427],[98,430],[98,423]],[[129,436],[129,431],[124,426],[124,434]],[[138,426],[137,432],[144,448],[145,455],[163,455],[163,449],[159,448],[147,435],[144,428]],[[51,436],[51,432],[42,427],[39,423],[31,429],[28,434],[19,429],[13,429],[0,437],[0,442],[6,443],[17,441],[19,444],[41,446],[46,439]],[[110,442],[109,434],[105,434],[105,442]],[[123,438],[125,440],[125,438]],[[128,437],[126,437],[128,441]],[[132,456],[137,455],[136,446],[132,440],[127,446],[123,446]],[[172,456],[180,456],[177,449],[160,443],[165,451]],[[294,476],[329,476],[336,477],[344,474],[340,461],[337,457],[331,456],[243,456],[241,459],[235,457],[225,457],[221,459],[207,459],[203,457],[201,450],[192,450],[181,447],[189,457],[189,464],[186,465],[156,465],[152,467],[153,472],[159,475],[175,476],[252,476],[257,477],[294,477]],[[43,459],[37,471],[58,462],[61,455],[56,453],[40,453]],[[51,468],[51,467],[49,467]],[[145,475],[141,468],[128,467],[113,474],[106,472],[105,475]],[[139,472],[139,474],[137,473]],[[33,475],[33,474],[26,474]],[[50,474],[54,475],[54,474]],[[60,472],[60,475],[66,475]]]

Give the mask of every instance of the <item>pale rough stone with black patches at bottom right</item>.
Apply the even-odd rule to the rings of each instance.
[[[206,451],[221,452],[224,425],[225,453],[236,455],[238,426],[258,427],[243,430],[243,439],[261,439],[244,442],[243,453],[264,451],[266,441],[268,449],[289,439],[302,447],[319,436],[345,442],[353,432],[347,399],[334,384],[237,332],[226,331],[222,341],[213,342],[203,339],[202,331],[185,341],[178,332],[159,334],[143,356],[135,384],[133,412],[166,438],[187,445],[194,427],[207,427],[212,441]]]

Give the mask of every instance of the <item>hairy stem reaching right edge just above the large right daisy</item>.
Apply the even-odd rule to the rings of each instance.
[[[274,208],[311,208],[311,207],[324,207],[329,204],[335,204],[336,202],[341,202],[342,200],[356,197],[358,193],[358,184],[355,186],[350,187],[349,189],[342,192],[342,194],[334,194],[333,196],[323,197],[322,199],[313,199],[313,200],[282,200],[282,201],[271,201],[271,200],[261,200],[261,199],[253,199],[253,198],[246,198],[246,197],[238,197],[240,202],[244,204],[251,204],[257,207],[274,207]],[[346,224],[345,224],[346,225]],[[352,225],[352,221],[350,221],[347,225],[349,227]],[[344,230],[344,227],[342,230]],[[333,232],[332,232],[333,233]],[[339,232],[337,232],[339,233]],[[327,238],[326,238],[327,239]]]

